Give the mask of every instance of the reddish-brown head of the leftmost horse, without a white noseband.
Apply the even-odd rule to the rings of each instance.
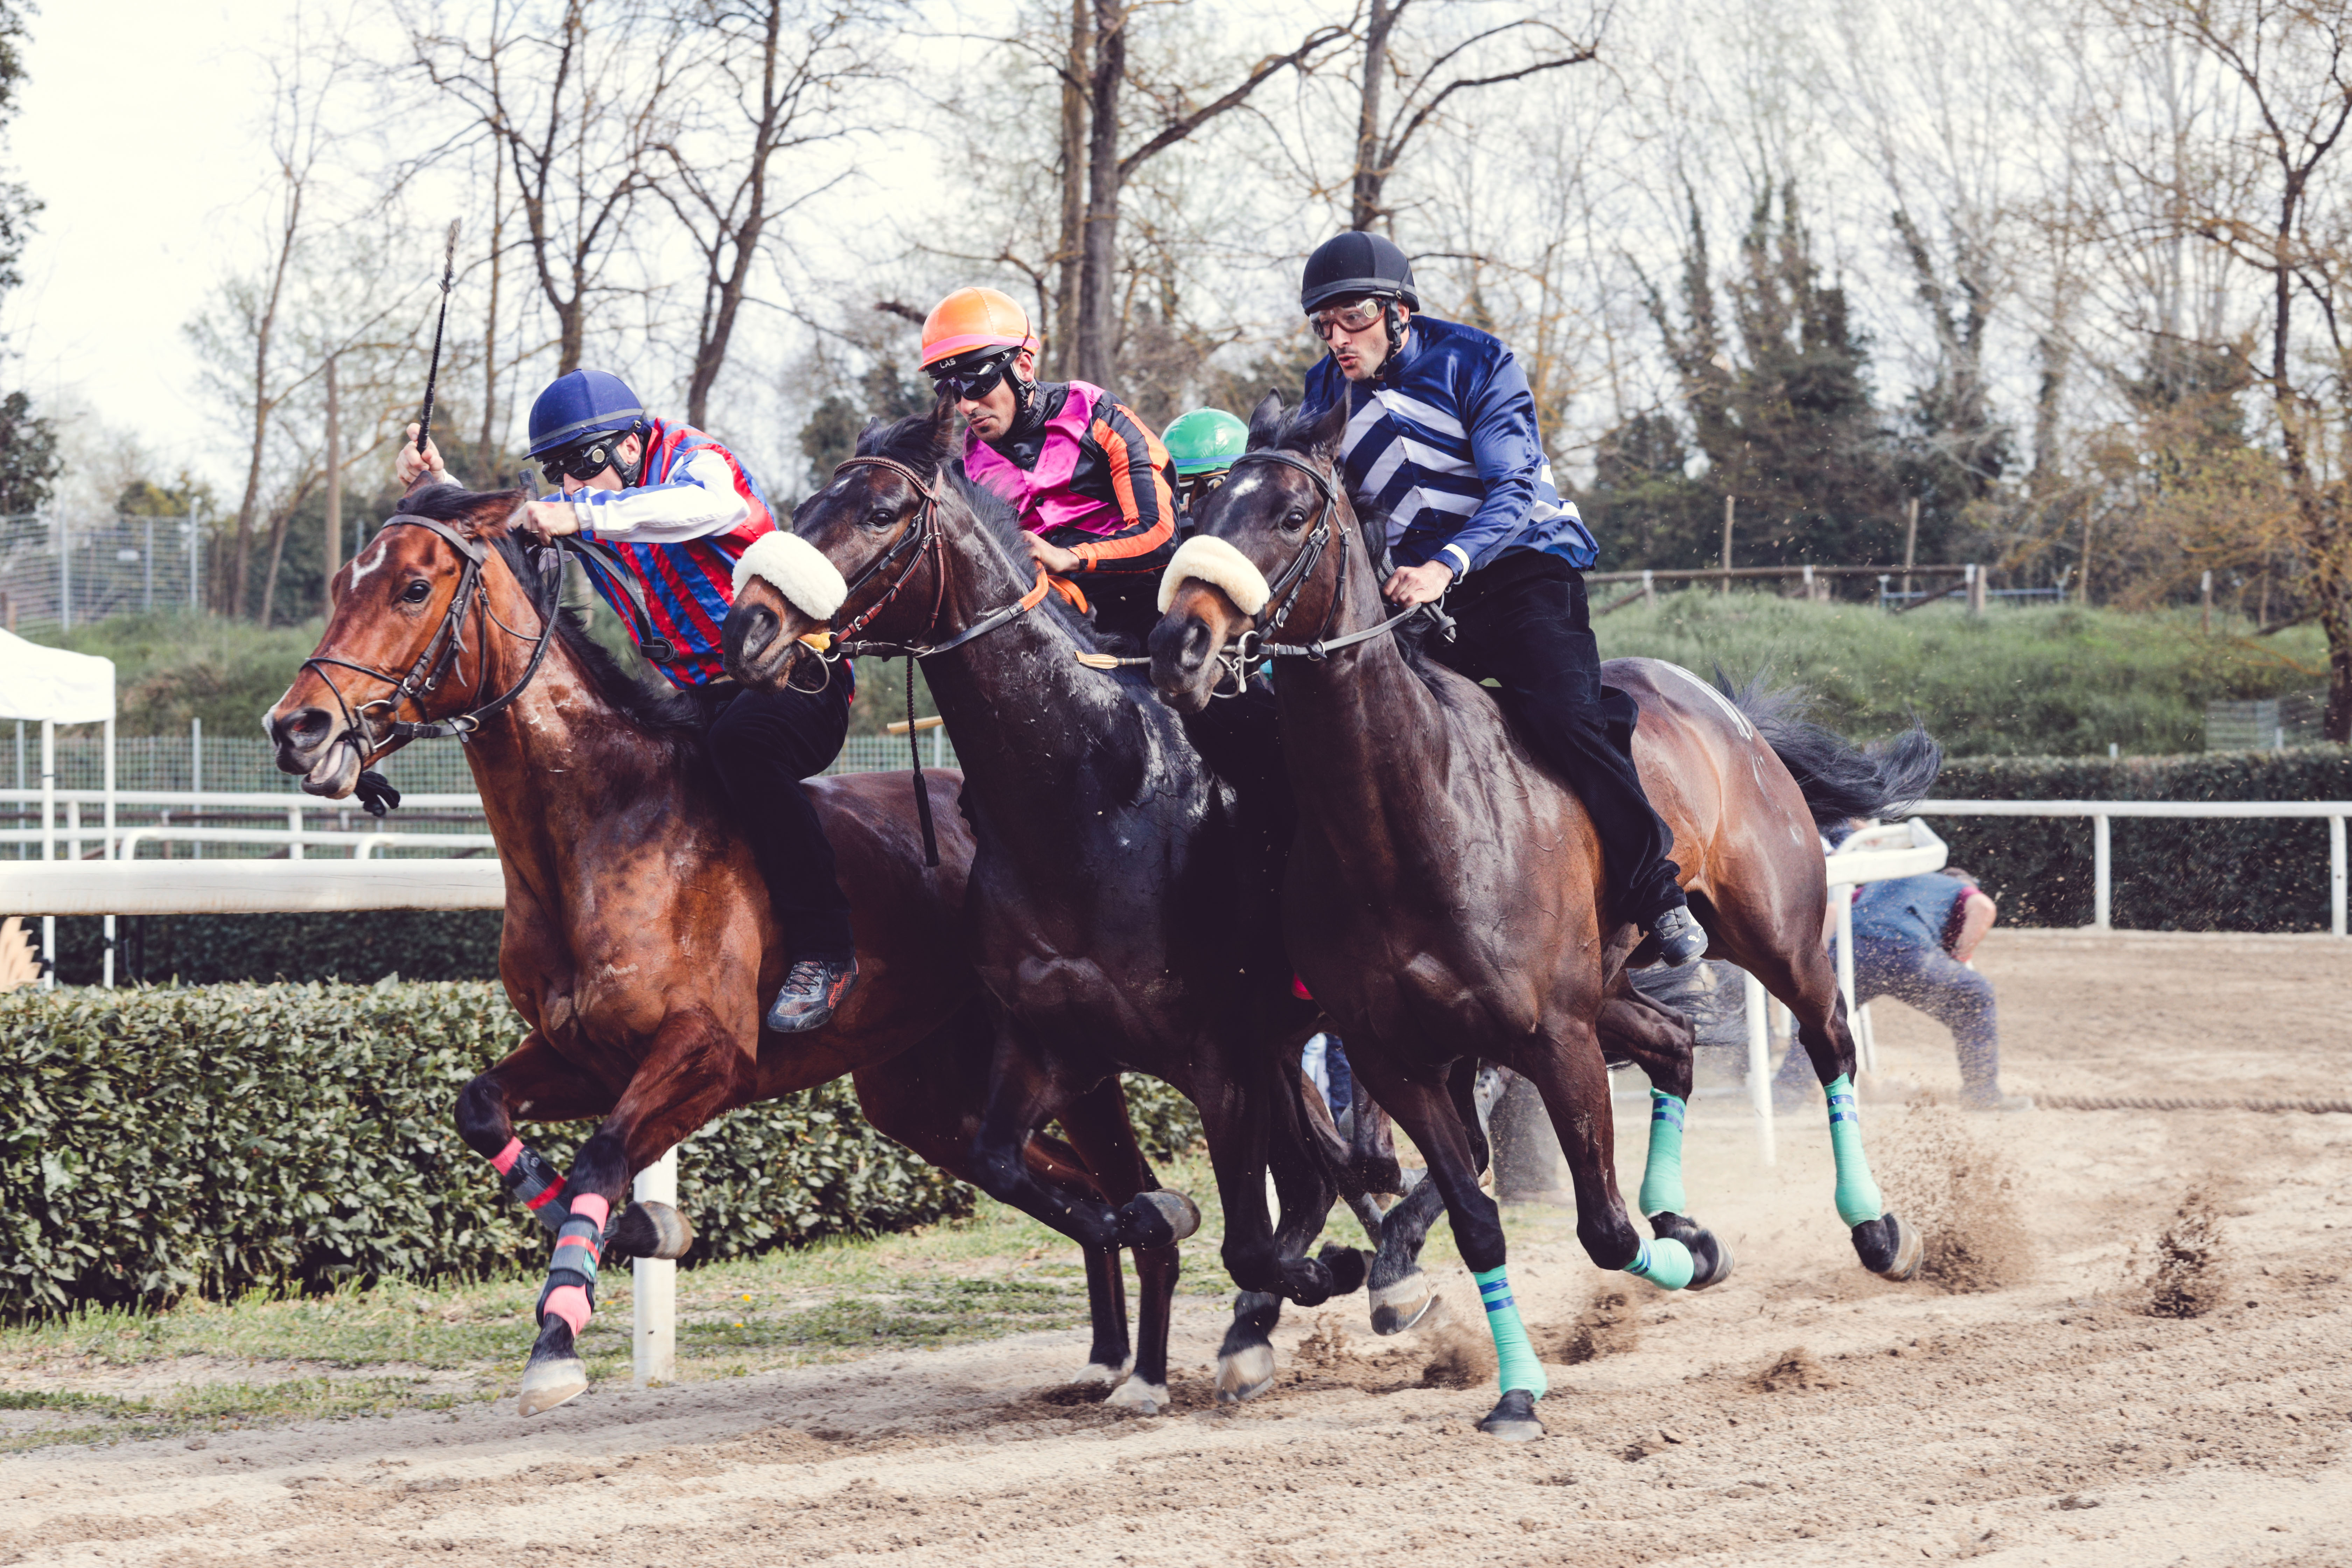
[[[348,797],[360,771],[397,745],[395,722],[437,719],[489,696],[485,637],[468,649],[466,623],[496,614],[485,567],[524,498],[419,491],[334,574],[334,611],[318,649],[261,715],[278,769],[301,773],[303,792]]]

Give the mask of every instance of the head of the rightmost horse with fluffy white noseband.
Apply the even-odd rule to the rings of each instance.
[[[1235,639],[1334,628],[1343,611],[1338,562],[1357,548],[1355,508],[1338,473],[1345,433],[1345,402],[1301,423],[1268,393],[1249,416],[1249,451],[1209,491],[1192,538],[1160,578],[1152,686],[1178,712],[1209,705],[1225,675],[1218,661]],[[1367,557],[1359,581],[1369,578]]]

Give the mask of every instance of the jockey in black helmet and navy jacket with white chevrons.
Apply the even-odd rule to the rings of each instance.
[[[1583,578],[1599,550],[1552,489],[1526,374],[1484,331],[1421,315],[1414,268],[1381,235],[1317,247],[1298,308],[1331,350],[1308,371],[1303,418],[1348,407],[1350,498],[1388,517],[1381,590],[1395,604],[1446,599],[1456,635],[1423,646],[1503,686],[1529,748],[1585,802],[1616,917],[1689,964],[1708,933],[1632,766],[1632,701],[1602,686]]]

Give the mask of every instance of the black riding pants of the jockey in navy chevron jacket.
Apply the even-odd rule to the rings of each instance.
[[[1557,555],[1517,550],[1456,583],[1446,614],[1454,642],[1430,637],[1421,646],[1470,679],[1503,686],[1503,708],[1526,748],[1585,802],[1616,917],[1649,926],[1684,903],[1668,860],[1675,835],[1632,766],[1639,712],[1630,696],[1602,686],[1585,576]]]

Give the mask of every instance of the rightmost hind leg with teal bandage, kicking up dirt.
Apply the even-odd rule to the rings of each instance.
[[[1853,1030],[1846,1025],[1846,997],[1837,990],[1837,969],[1813,933],[1797,922],[1799,940],[1773,943],[1759,936],[1762,919],[1748,910],[1719,912],[1729,959],[1752,973],[1797,1018],[1797,1041],[1813,1063],[1830,1110],[1830,1154],[1837,1159],[1837,1218],[1853,1234],[1853,1253],[1882,1279],[1915,1279],[1926,1244],[1919,1227],[1886,1211],[1879,1185],[1863,1154],[1863,1121],[1853,1095]]]

